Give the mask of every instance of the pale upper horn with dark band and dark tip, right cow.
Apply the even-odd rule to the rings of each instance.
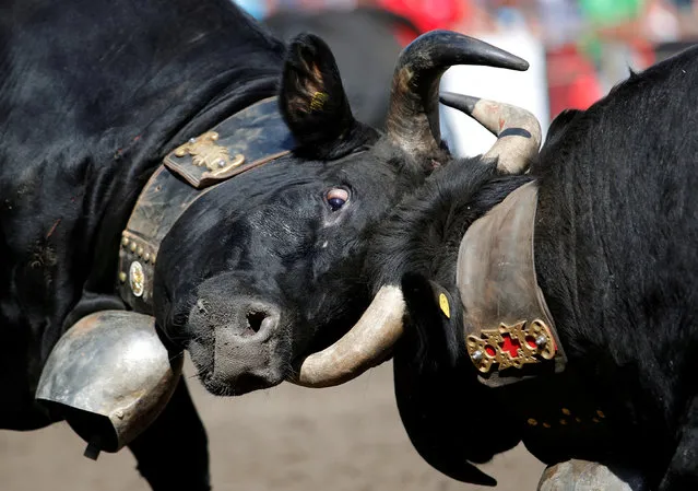
[[[470,95],[445,92],[445,105],[465,113],[487,128],[497,141],[485,157],[498,159],[497,168],[507,174],[523,174],[541,147],[541,125],[533,114],[509,104]]]

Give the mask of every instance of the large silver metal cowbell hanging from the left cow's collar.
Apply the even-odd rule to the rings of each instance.
[[[104,311],[83,317],[56,343],[36,399],[88,442],[85,456],[117,452],[161,413],[181,374],[151,316]]]

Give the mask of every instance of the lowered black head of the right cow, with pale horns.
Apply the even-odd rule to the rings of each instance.
[[[376,294],[357,322],[363,332],[353,337],[363,355],[346,363],[343,379],[392,353],[398,409],[415,449],[453,479],[494,486],[471,463],[489,460],[520,435],[506,424],[477,423],[477,402],[490,395],[465,353],[457,260],[470,225],[530,180],[521,174],[537,153],[541,133],[532,115],[512,106],[452,94],[442,102],[499,138],[485,155],[447,160],[372,235],[366,276]],[[495,421],[510,419],[507,407],[488,405],[487,411]]]

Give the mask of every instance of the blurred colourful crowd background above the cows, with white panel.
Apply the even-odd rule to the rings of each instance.
[[[329,37],[335,52],[342,47],[351,47],[363,51],[369,61],[371,56],[360,49],[360,43],[368,43],[368,39],[362,39],[360,35],[353,39],[342,38],[342,32],[348,31],[344,25],[356,22],[353,19],[356,15],[344,16],[350,21],[336,21],[340,19],[336,12],[378,9],[406,19],[418,32],[448,28],[486,40],[527,59],[531,68],[522,74],[457,67],[446,73],[441,90],[525,107],[537,116],[544,131],[549,120],[564,108],[587,108],[625,79],[630,69],[642,70],[698,40],[698,0],[235,1],[271,25],[276,34],[285,35],[283,37],[291,37],[291,33],[303,27],[309,31],[321,27],[315,31]],[[295,15],[293,21],[292,15]],[[328,36],[330,28],[334,32]],[[375,31],[371,25],[364,33]],[[393,34],[404,46],[417,33],[394,25]],[[332,37],[338,42],[332,43]],[[386,44],[386,40],[380,43],[382,47]],[[372,46],[378,47],[376,43]],[[372,55],[372,58],[377,57]],[[346,57],[340,52],[340,69],[345,83],[351,85],[354,82],[352,63],[343,67],[343,58]],[[381,70],[391,70],[394,58],[383,58],[381,67],[386,68]],[[348,73],[343,69],[346,66]],[[370,66],[362,69],[363,74],[376,71]],[[352,92],[351,87],[347,90]],[[369,90],[375,89],[364,87],[364,91]],[[371,105],[378,106],[377,103]],[[360,110],[358,113],[363,116]],[[485,130],[453,109],[442,109],[441,116],[443,136],[456,153],[477,154],[494,142]],[[365,119],[374,122],[370,116]]]

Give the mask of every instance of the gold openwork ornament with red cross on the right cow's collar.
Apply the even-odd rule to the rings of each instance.
[[[466,340],[468,354],[481,373],[488,373],[497,364],[497,370],[521,369],[523,365],[540,363],[541,359],[552,360],[556,346],[549,328],[541,319],[497,329],[483,329],[480,337],[470,335]]]

